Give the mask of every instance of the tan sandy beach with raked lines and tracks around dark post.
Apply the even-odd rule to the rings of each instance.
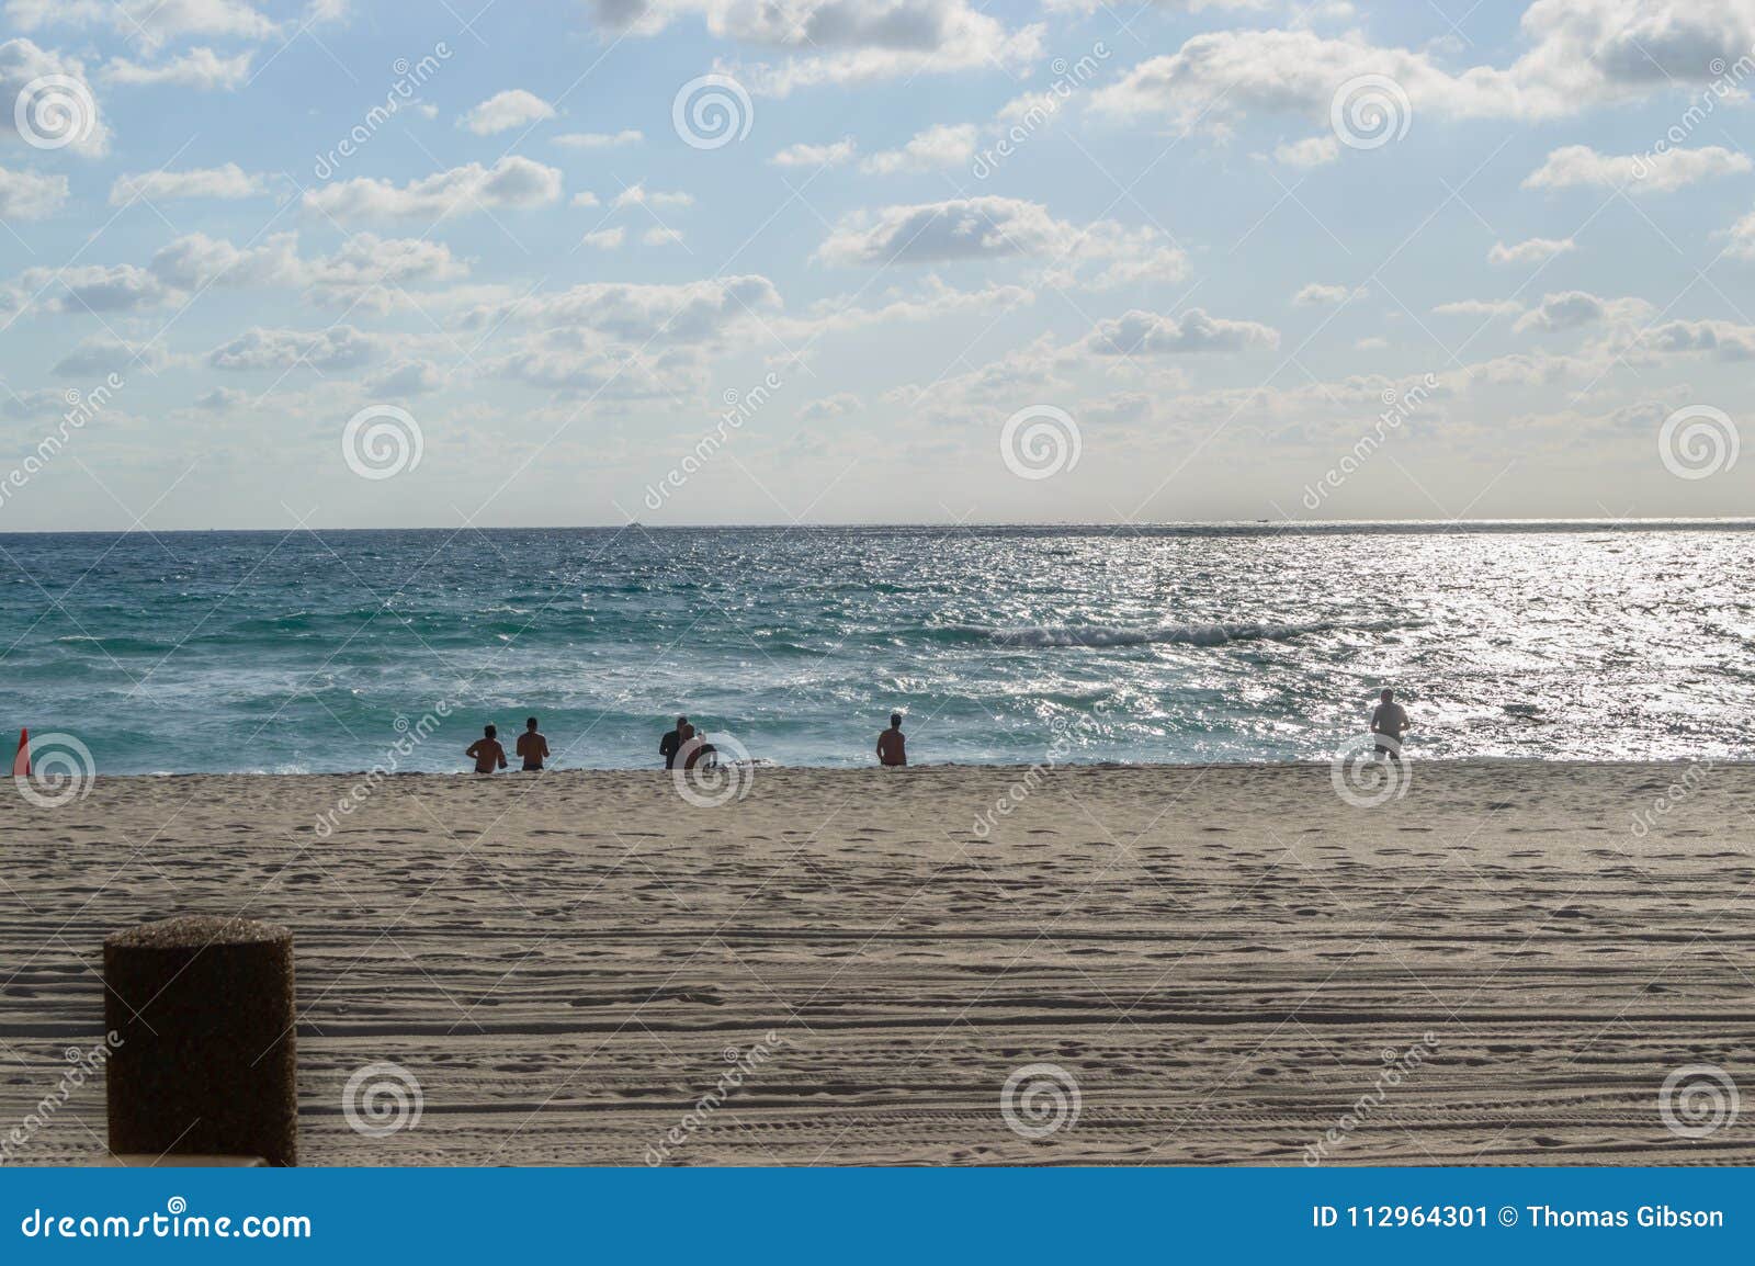
[[[353,778],[9,794],[0,1131],[105,934],[242,913],[297,938],[305,1164],[1750,1164],[1658,1103],[1755,1052],[1755,766],[1683,771],[400,776],[326,838]],[[374,1064],[418,1120],[351,1127]],[[102,1085],[19,1159],[102,1161]]]

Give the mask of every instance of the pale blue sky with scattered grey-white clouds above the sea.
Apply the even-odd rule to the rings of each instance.
[[[1755,0],[4,0],[0,530],[1755,509]]]

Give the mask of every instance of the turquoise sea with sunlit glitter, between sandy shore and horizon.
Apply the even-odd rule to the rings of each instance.
[[[0,536],[0,725],[100,773],[1325,759],[1393,685],[1427,759],[1755,755],[1755,536],[714,529]],[[435,711],[437,709],[437,711]],[[421,725],[421,718],[432,725]]]

